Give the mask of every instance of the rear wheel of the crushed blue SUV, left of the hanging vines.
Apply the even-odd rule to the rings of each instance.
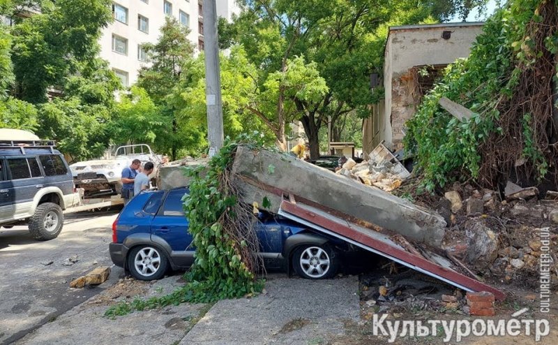
[[[153,246],[135,247],[128,256],[130,273],[140,280],[162,278],[167,272],[168,263],[163,251]]]

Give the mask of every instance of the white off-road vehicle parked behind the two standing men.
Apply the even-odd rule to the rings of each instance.
[[[134,159],[140,159],[142,166],[151,161],[155,169],[151,177],[156,176],[161,156],[154,154],[146,144],[120,146],[116,149],[114,159],[82,161],[70,165],[76,188],[82,188],[86,196],[96,193],[120,194],[122,189],[122,170],[130,166]]]

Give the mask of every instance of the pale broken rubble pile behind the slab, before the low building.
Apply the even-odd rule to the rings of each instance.
[[[411,175],[383,144],[379,144],[368,155],[368,161],[357,164],[354,160],[347,159],[336,173],[384,191],[397,189]]]

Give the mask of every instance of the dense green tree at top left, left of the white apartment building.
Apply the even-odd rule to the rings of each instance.
[[[99,52],[100,30],[112,20],[109,0],[41,1],[40,13],[13,27],[15,96],[31,103],[47,101],[47,89]]]

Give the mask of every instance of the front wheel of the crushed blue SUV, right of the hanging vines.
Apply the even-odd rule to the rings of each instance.
[[[338,259],[328,245],[304,245],[294,251],[293,266],[306,279],[327,279],[337,273]]]

